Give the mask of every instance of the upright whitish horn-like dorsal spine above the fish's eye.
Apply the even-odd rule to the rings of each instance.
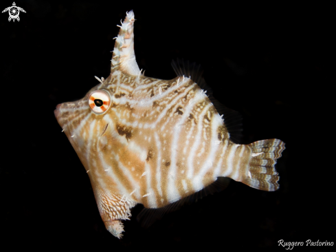
[[[120,27],[120,32],[116,37],[112,60],[111,72],[119,67],[122,72],[131,75],[139,74],[140,70],[135,61],[134,53],[134,13],[133,10],[126,12],[126,18]]]

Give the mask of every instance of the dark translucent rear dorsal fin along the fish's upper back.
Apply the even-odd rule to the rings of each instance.
[[[208,98],[216,108],[219,114],[223,114],[225,127],[229,132],[230,140],[234,143],[241,144],[243,138],[243,118],[239,112],[229,109],[221,104],[214,98],[212,88],[205,83],[203,78],[203,70],[201,65],[197,63],[189,63],[189,61],[183,61],[177,59],[177,61],[172,60],[172,68],[175,70],[177,76],[187,76],[192,79],[201,89],[207,91]]]

